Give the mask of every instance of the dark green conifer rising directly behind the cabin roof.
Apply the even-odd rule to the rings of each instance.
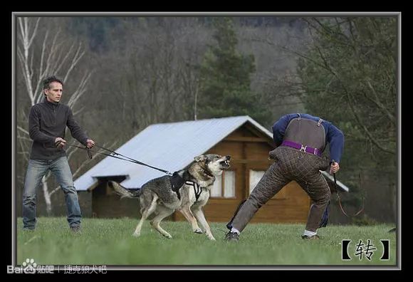
[[[269,112],[259,105],[250,88],[250,75],[255,72],[253,55],[236,50],[232,19],[215,19],[214,27],[216,44],[209,46],[201,65],[199,116],[249,115],[258,122],[265,121]]]

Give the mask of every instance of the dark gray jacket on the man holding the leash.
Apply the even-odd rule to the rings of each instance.
[[[89,137],[73,118],[68,105],[51,103],[46,98],[42,103],[33,105],[28,118],[28,132],[33,140],[31,160],[56,160],[66,156],[64,149],[55,146],[56,137],[64,139],[66,126],[70,134],[83,145]]]

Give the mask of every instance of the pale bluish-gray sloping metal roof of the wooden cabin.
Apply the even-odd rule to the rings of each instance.
[[[204,154],[246,122],[273,138],[270,131],[249,116],[221,117],[150,125],[115,152],[153,167],[175,172],[187,167],[195,156]],[[79,191],[85,191],[98,181],[98,177],[121,175],[127,177],[122,182],[124,187],[140,188],[150,179],[165,174],[140,164],[105,157],[76,179],[75,187]]]

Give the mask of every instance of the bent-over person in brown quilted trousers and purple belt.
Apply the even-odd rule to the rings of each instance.
[[[259,208],[266,204],[288,182],[295,180],[312,200],[303,239],[318,239],[317,229],[328,202],[330,189],[320,170],[338,172],[344,148],[344,135],[331,122],[308,114],[284,115],[273,125],[276,149],[270,152],[275,160],[227,224],[231,230],[226,240],[238,241],[240,232]],[[321,157],[330,143],[330,164]]]

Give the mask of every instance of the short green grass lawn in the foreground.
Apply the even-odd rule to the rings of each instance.
[[[87,219],[82,234],[71,234],[63,217],[41,217],[34,232],[17,224],[17,263],[34,258],[40,265],[126,266],[395,266],[396,234],[392,225],[333,226],[318,230],[320,240],[303,240],[304,224],[249,224],[238,243],[224,241],[224,223],[211,223],[216,241],[194,234],[186,221],[164,221],[174,238],[166,239],[146,221],[139,238],[137,219]],[[350,239],[351,261],[341,259],[341,241]],[[377,248],[369,261],[355,256],[356,244],[370,239]],[[390,260],[380,261],[380,239],[390,240]]]

